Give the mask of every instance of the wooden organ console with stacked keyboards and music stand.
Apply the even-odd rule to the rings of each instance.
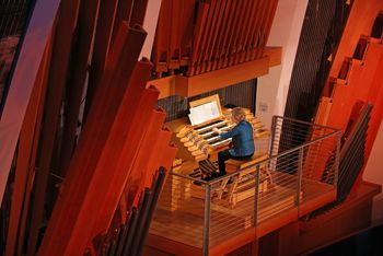
[[[172,140],[178,148],[176,158],[181,161],[175,163],[177,166],[181,165],[181,172],[185,174],[193,172],[204,160],[216,161],[218,152],[229,147],[231,138],[221,140],[212,131],[213,128],[227,131],[235,125],[231,120],[231,109],[221,107],[217,94],[190,102],[189,106],[189,118],[184,117],[166,124],[173,131]],[[268,135],[260,121],[248,109],[246,109],[246,119],[253,126],[255,139]]]

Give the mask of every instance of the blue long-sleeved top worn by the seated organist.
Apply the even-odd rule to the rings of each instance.
[[[229,150],[233,156],[247,156],[254,154],[253,127],[246,121],[240,121],[228,132],[221,132],[222,140],[232,138],[233,148]]]

